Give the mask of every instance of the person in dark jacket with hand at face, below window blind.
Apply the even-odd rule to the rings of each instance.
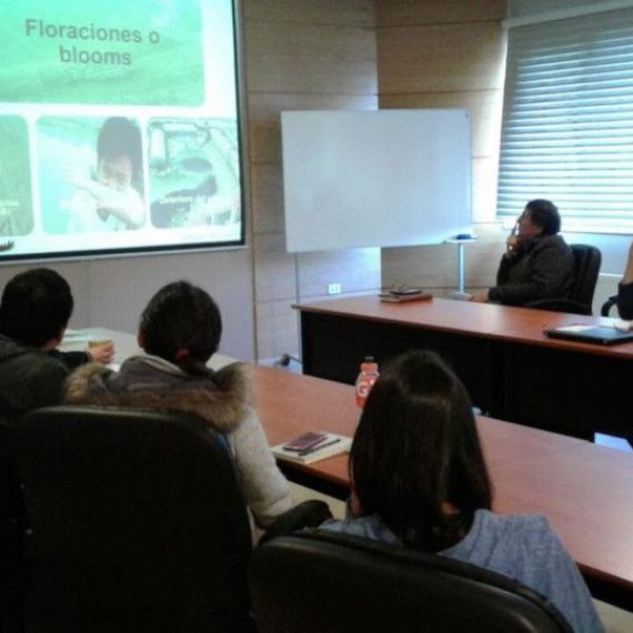
[[[561,217],[549,200],[525,205],[508,238],[496,285],[473,295],[472,301],[525,305],[539,299],[569,297],[573,275],[573,253],[559,235]]]

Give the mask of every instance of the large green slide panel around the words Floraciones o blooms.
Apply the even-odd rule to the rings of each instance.
[[[27,19],[139,30],[142,42],[27,36]],[[159,43],[149,42],[150,31]],[[0,101],[191,107],[204,99],[198,0],[2,0],[0,42]],[[128,52],[132,63],[62,62],[60,46]]]

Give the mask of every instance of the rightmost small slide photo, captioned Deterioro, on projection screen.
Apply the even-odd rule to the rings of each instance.
[[[235,119],[152,119],[148,137],[154,227],[240,223]]]

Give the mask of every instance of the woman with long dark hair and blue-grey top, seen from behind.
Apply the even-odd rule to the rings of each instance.
[[[468,393],[430,352],[382,372],[350,455],[350,516],[322,526],[470,562],[547,596],[576,632],[602,631],[580,572],[544,516],[491,511]]]

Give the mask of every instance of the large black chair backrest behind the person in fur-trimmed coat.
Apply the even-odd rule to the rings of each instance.
[[[224,438],[197,419],[57,406],[17,436],[27,630],[250,631],[249,520]]]

